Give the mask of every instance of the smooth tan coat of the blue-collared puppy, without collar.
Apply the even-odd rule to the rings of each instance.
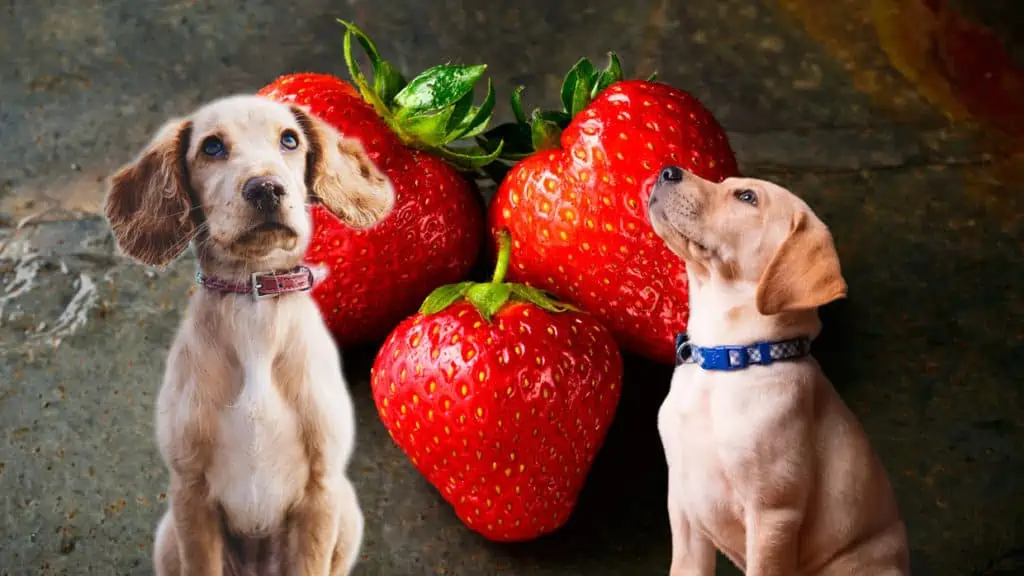
[[[648,212],[686,261],[695,345],[813,338],[816,308],[846,295],[827,228],[778,186],[684,173],[655,184]],[[673,576],[714,574],[716,547],[752,576],[909,573],[888,476],[812,358],[738,371],[684,364],[658,430]]]

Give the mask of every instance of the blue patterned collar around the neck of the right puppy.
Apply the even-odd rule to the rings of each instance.
[[[806,336],[744,346],[700,347],[690,342],[685,332],[676,335],[676,366],[696,364],[705,370],[742,370],[753,365],[797,360],[810,354],[811,339]]]

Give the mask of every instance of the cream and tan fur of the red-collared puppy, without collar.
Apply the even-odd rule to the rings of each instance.
[[[283,146],[286,131],[295,150]],[[204,154],[209,137],[224,155]],[[264,214],[242,197],[253,176],[284,186],[284,229],[256,229]],[[113,176],[105,214],[141,262],[167,264],[193,242],[204,275],[243,282],[301,261],[307,198],[364,227],[390,210],[393,191],[358,141],[298,108],[231,96],[161,128]],[[362,535],[346,476],[352,405],[307,292],[198,290],[168,356],[156,428],[171,476],[158,575],[351,571]]]

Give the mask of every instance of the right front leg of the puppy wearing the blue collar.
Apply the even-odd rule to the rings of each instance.
[[[748,576],[793,576],[797,573],[803,520],[803,513],[794,509],[752,509],[748,512]]]

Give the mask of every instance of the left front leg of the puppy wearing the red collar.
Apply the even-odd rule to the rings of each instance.
[[[171,475],[171,511],[182,575],[223,574],[223,534],[215,506],[205,479]]]

